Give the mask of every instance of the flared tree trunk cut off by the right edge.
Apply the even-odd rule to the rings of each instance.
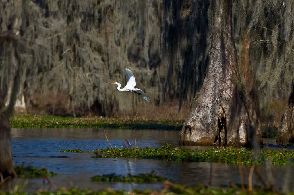
[[[277,142],[294,143],[294,81],[291,95],[278,129]]]

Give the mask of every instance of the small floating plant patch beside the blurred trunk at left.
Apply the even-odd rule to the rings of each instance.
[[[36,177],[49,177],[54,176],[56,173],[50,171],[48,172],[45,168],[37,168],[32,166],[24,167],[24,165],[19,165],[14,167],[17,177],[19,178],[36,178]]]

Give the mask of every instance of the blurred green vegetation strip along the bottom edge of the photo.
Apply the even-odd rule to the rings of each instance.
[[[111,189],[103,189],[99,191],[93,191],[92,189],[78,189],[78,188],[71,188],[71,189],[59,189],[57,191],[38,191],[36,193],[27,193],[22,191],[16,192],[4,192],[0,191],[0,195],[278,195],[283,193],[273,193],[271,191],[263,191],[263,190],[253,190],[253,191],[241,191],[238,188],[212,188],[212,187],[204,187],[198,186],[193,188],[185,188],[181,185],[174,184],[173,187],[167,190],[146,190],[146,191],[139,191],[133,190],[131,192],[123,191],[123,190],[111,190]],[[288,194],[290,195],[290,194]],[[293,195],[293,193],[291,193]]]

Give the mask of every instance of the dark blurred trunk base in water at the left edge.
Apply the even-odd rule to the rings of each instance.
[[[7,117],[0,111],[0,173],[3,178],[14,177],[11,153],[10,125]],[[0,174],[0,177],[1,177]]]

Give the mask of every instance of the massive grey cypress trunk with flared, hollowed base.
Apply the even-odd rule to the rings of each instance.
[[[250,96],[240,83],[232,37],[232,1],[210,4],[212,42],[203,86],[182,132],[182,145],[245,146],[262,143],[260,122]]]

